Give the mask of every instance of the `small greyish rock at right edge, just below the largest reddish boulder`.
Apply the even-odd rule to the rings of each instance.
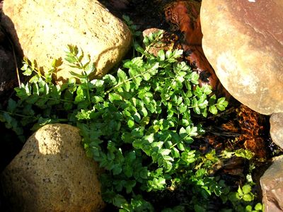
[[[270,136],[283,149],[283,113],[275,113],[270,117]]]

